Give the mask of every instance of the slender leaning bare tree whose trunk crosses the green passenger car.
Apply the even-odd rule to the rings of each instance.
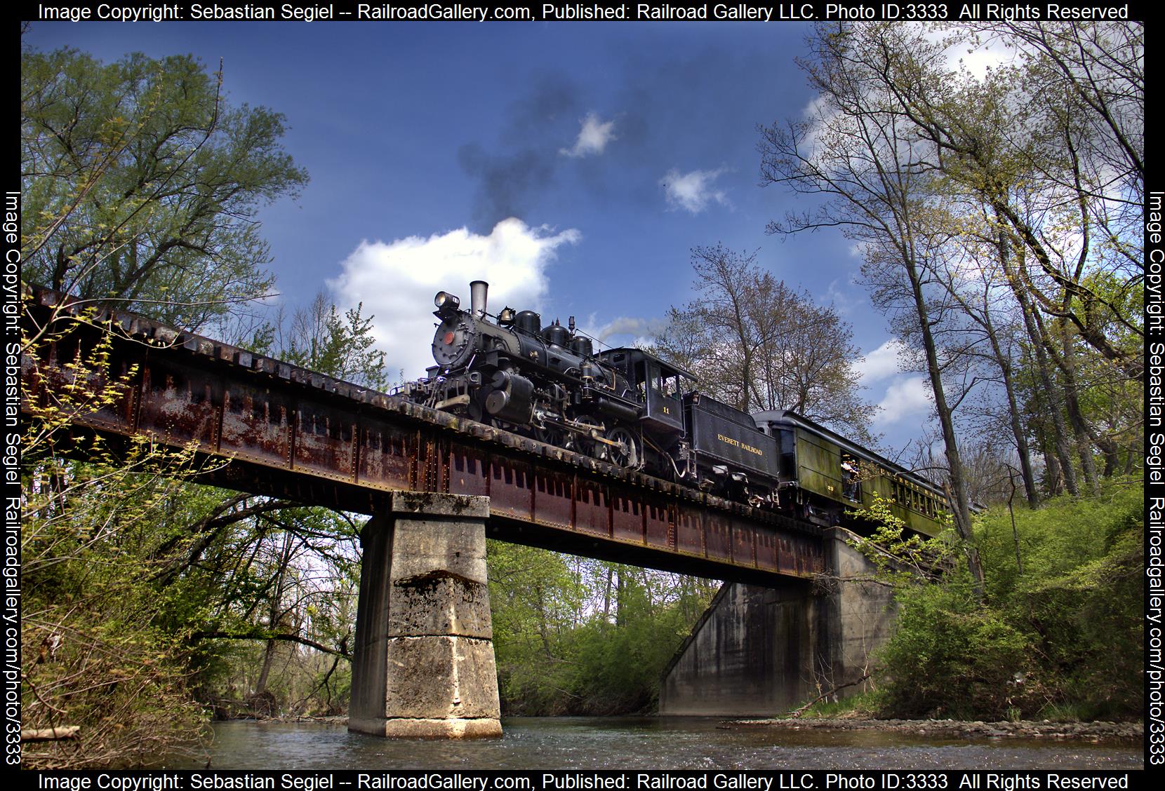
[[[898,93],[929,88],[945,47],[924,31],[894,24],[820,24],[810,41],[813,59],[802,66],[818,101],[809,119],[761,130],[764,184],[821,198],[807,213],[769,223],[774,234],[840,227],[867,245],[868,262],[901,271],[913,305],[951,476],[951,500],[960,535],[970,533],[963,480],[942,361],[924,291],[937,244],[929,235],[934,185],[934,145],[922,140],[901,109]],[[977,556],[972,571],[982,580]]]

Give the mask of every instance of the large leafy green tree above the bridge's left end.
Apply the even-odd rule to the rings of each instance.
[[[267,293],[257,209],[308,177],[284,119],[190,56],[21,54],[24,277],[198,328]]]

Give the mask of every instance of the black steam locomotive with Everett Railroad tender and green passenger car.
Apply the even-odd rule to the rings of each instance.
[[[942,491],[874,451],[793,412],[722,404],[642,349],[595,351],[573,316],[543,327],[532,311],[489,314],[483,280],[469,293],[468,311],[437,293],[437,364],[404,386],[409,399],[824,526],[878,494],[910,529],[941,529]]]

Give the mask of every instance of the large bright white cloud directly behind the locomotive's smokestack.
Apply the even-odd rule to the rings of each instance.
[[[581,238],[573,228],[555,233],[510,218],[488,236],[458,228],[428,238],[365,240],[327,285],[340,306],[363,302],[363,314],[375,316],[376,348],[387,355],[389,380],[402,369],[405,379],[415,379],[433,364],[433,294],[457,294],[467,308],[469,282],[486,280],[492,313],[504,305],[537,309],[549,290],[546,266],[559,247]]]

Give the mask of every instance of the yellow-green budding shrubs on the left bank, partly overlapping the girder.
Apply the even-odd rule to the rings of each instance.
[[[59,339],[59,336],[56,336]],[[33,357],[37,343],[26,339]],[[156,622],[155,585],[181,537],[156,513],[195,472],[192,450],[148,440],[110,447],[69,430],[122,397],[100,340],[30,399],[22,444],[21,662],[23,727],[76,726],[77,741],[31,742],[27,765],[140,767],[202,740],[189,654]],[[35,369],[33,380],[40,380]],[[43,384],[43,380],[41,380]],[[82,443],[91,459],[63,458]]]

